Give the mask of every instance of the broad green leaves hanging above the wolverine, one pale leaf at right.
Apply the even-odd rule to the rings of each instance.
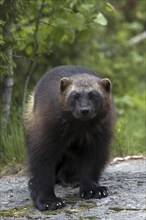
[[[84,4],[80,1],[50,0],[42,6],[40,0],[30,1],[28,16],[22,18],[22,26],[18,24],[14,27],[20,50],[32,57],[35,44],[39,45],[37,53],[49,53],[58,42],[66,44],[73,43],[76,37],[78,40],[86,38],[89,33],[92,34],[93,26],[107,24],[105,16],[95,7],[95,3],[95,0]],[[102,8],[106,7],[101,5]]]

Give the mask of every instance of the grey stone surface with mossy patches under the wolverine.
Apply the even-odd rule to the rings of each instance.
[[[110,195],[101,200],[81,200],[78,188],[56,186],[56,194],[67,206],[40,212],[33,208],[26,176],[0,179],[0,220],[146,220],[146,160],[129,160],[109,165],[101,184]]]

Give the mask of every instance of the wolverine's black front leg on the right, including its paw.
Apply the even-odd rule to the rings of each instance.
[[[105,186],[100,186],[98,182],[104,163],[101,163],[101,159],[99,158],[99,161],[97,160],[95,153],[88,152],[84,154],[80,160],[79,195],[84,199],[101,199],[108,195],[107,188]]]

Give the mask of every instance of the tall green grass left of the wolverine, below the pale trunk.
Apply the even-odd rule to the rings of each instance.
[[[25,146],[23,135],[22,111],[13,110],[9,124],[0,134],[0,163],[15,164],[24,162]]]

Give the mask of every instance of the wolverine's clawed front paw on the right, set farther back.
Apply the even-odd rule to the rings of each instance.
[[[84,188],[80,189],[80,197],[83,199],[91,199],[91,198],[96,198],[96,199],[101,199],[104,197],[107,197],[109,192],[105,186],[94,186],[91,188]]]

